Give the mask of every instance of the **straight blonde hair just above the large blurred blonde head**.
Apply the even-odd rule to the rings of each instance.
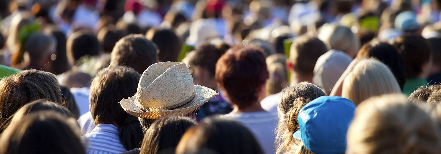
[[[343,81],[341,96],[355,106],[372,96],[401,93],[392,72],[376,59],[361,59]]]

